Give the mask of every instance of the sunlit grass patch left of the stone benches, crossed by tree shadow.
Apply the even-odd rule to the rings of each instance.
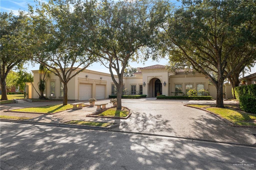
[[[15,109],[12,111],[20,111],[20,112],[37,112],[37,113],[55,113],[59,111],[65,111],[73,106],[68,104],[66,106],[62,106],[62,104],[58,105],[49,105],[49,106],[41,106],[41,107],[28,107],[22,109]]]

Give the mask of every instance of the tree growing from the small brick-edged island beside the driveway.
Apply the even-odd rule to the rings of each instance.
[[[109,68],[117,88],[117,110],[121,110],[123,76],[129,61],[143,54],[142,47],[152,44],[159,27],[166,20],[169,4],[164,1],[100,1],[94,11],[98,22],[92,27],[93,48],[84,46],[97,55]],[[86,13],[85,10],[82,13]],[[83,14],[83,16],[85,16]],[[86,23],[86,22],[84,22]],[[141,59],[147,59],[144,53]],[[116,80],[114,74],[117,74]]]

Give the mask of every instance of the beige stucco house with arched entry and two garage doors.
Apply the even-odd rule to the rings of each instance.
[[[32,70],[32,72],[34,73],[34,87],[39,92],[38,70]],[[115,78],[117,79],[117,76]],[[126,89],[128,94],[146,94],[147,97],[155,97],[157,91],[170,96],[177,91],[186,94],[186,91],[191,88],[196,88],[197,91],[209,89],[208,78],[205,75],[193,75],[191,71],[185,72],[183,69],[170,72],[164,65],[140,67],[138,72],[134,73],[134,77],[124,77],[123,82],[123,89]],[[37,99],[39,95],[31,83],[26,83],[26,85],[28,97]],[[68,99],[106,99],[109,95],[115,94],[114,87],[110,74],[86,69],[68,82]],[[63,98],[63,86],[57,76],[52,74],[47,80],[44,95],[52,99]]]

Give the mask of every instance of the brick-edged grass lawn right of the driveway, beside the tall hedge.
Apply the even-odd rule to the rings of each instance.
[[[242,112],[239,105],[225,105],[226,108],[217,108],[215,105],[197,104],[189,104],[189,106],[204,108],[229,120],[234,125],[256,126],[256,114]]]

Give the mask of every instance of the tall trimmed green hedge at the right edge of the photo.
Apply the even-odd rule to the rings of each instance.
[[[256,113],[256,84],[238,86],[235,88],[235,94],[241,110]]]

